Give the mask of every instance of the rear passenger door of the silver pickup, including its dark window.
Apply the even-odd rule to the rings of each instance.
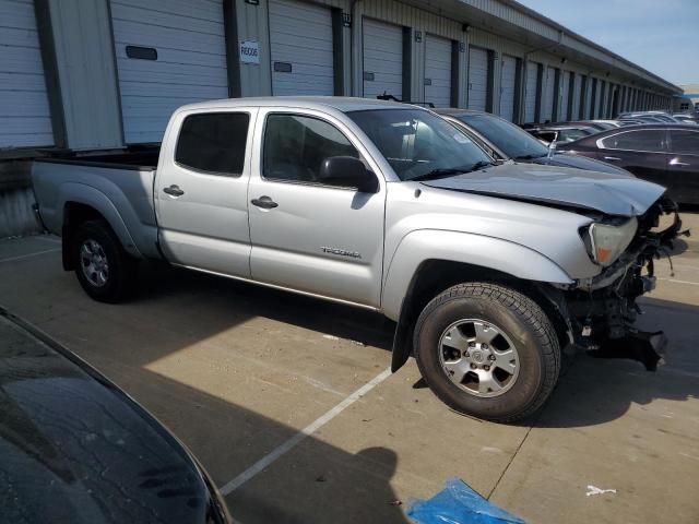
[[[161,248],[170,262],[250,276],[246,152],[256,112],[198,114],[189,121],[182,115],[174,122],[182,130],[177,146],[163,151],[154,191]],[[187,141],[188,131],[196,139]]]

